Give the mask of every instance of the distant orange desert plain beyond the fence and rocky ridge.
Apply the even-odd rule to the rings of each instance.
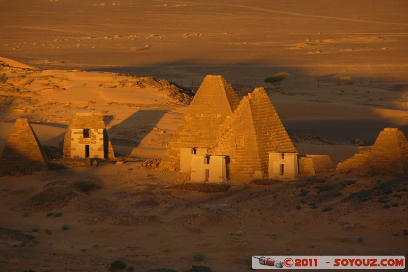
[[[114,5],[115,4],[115,5]],[[185,83],[407,72],[404,0],[2,1],[0,56]],[[390,61],[392,60],[392,61]],[[258,81],[260,82],[260,81]]]

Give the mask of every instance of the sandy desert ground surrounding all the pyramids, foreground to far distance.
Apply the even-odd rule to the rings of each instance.
[[[252,255],[406,256],[404,177],[331,171],[220,185],[140,167],[163,158],[206,75],[222,75],[240,98],[265,87],[298,152],[329,155],[334,166],[384,128],[408,135],[405,1],[0,7],[0,154],[25,117],[61,157],[78,111],[104,115],[116,154],[0,177],[0,271],[107,271],[114,260],[135,271],[247,271]],[[281,71],[290,76],[280,89],[263,82]],[[54,210],[60,216],[47,216]]]

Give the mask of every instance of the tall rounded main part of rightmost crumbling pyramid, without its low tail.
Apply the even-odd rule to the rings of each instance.
[[[364,168],[373,175],[408,174],[408,141],[402,131],[386,128],[371,148]]]

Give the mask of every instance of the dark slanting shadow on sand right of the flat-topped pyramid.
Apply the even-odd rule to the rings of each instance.
[[[115,154],[117,154],[115,145],[138,147],[141,141],[155,130],[158,122],[167,112],[167,110],[160,109],[141,109],[117,125],[112,126],[108,130],[108,135]],[[158,133],[160,132],[160,130],[156,130]],[[130,155],[131,152],[131,149],[122,150],[119,155]]]

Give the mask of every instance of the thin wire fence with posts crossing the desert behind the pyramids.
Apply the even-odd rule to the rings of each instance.
[[[191,90],[197,90],[201,84],[201,80],[194,79],[170,79],[171,82],[185,87]],[[241,78],[241,79],[228,79],[226,78],[228,84],[231,84],[234,88],[254,88],[254,87],[270,87],[272,85],[267,85],[263,79],[254,78]],[[395,80],[389,78],[375,78],[375,77],[291,77],[286,78],[282,81],[281,87],[307,87],[307,86],[336,86],[336,85],[378,85],[378,84],[403,84],[407,83],[402,80]]]

